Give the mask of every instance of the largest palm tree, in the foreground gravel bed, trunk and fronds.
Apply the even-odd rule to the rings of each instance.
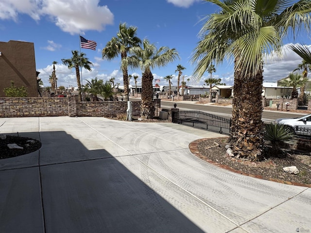
[[[310,29],[311,3],[300,0],[206,0],[221,8],[200,31],[191,58],[193,77],[199,80],[211,64],[234,60],[234,98],[229,140],[238,157],[259,160],[263,155],[263,53],[281,54],[282,39]],[[293,4],[293,5],[292,5]]]

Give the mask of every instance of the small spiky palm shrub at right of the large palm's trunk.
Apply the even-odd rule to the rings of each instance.
[[[287,125],[266,124],[264,140],[267,142],[270,156],[284,155],[288,145],[297,145],[296,135]]]

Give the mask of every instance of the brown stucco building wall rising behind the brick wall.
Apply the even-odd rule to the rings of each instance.
[[[34,43],[14,41],[0,42],[0,97],[3,89],[11,85],[27,87],[28,97],[37,97]]]

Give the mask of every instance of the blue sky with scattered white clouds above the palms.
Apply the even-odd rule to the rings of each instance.
[[[86,53],[93,63],[92,71],[82,70],[82,83],[86,80],[115,78],[115,83],[123,85],[120,70],[121,57],[112,61],[103,60],[102,50],[112,37],[117,35],[119,24],[138,28],[137,36],[148,39],[157,48],[167,46],[178,51],[180,59],[165,67],[152,70],[159,85],[168,85],[163,78],[173,75],[172,83],[177,84],[178,64],[183,70],[187,84],[202,85],[210,77],[206,74],[199,81],[191,79],[194,65],[190,58],[203,26],[202,19],[218,12],[216,5],[204,0],[0,0],[0,41],[10,40],[32,42],[35,46],[36,70],[44,86],[50,86],[52,63],[56,61],[58,86],[77,86],[75,70],[70,70],[61,59],[71,58],[72,50]],[[80,49],[82,35],[97,42],[96,50]],[[284,41],[282,59],[268,57],[264,65],[264,82],[276,82],[289,75],[302,62],[292,50],[286,49],[289,43],[311,45],[310,35],[300,33],[297,38]],[[213,78],[233,85],[232,61],[224,61],[217,66]],[[138,75],[141,83],[141,70],[129,70]],[[187,81],[190,79],[190,81]],[[135,85],[134,80],[130,84]]]

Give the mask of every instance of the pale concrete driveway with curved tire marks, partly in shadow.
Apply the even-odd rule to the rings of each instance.
[[[311,232],[311,189],[194,156],[222,134],[98,117],[1,118],[40,150],[0,160],[0,233]]]

